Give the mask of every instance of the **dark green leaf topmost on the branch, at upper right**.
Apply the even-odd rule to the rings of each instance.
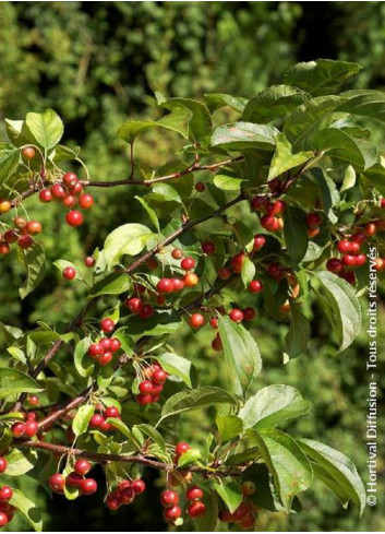
[[[334,93],[349,78],[360,70],[358,63],[317,59],[298,63],[287,72],[285,82],[306,91],[313,96]]]

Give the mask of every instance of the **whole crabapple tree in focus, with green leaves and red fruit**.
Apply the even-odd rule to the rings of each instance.
[[[341,92],[359,70],[300,63],[251,99],[158,94],[163,118],[118,130],[130,155],[121,179],[89,176],[79,150],[61,144],[53,110],[5,120],[0,254],[25,265],[21,299],[44,281],[51,232],[28,217],[31,197],[47,212],[59,204],[61,223],[76,233],[104,188],[129,188],[143,223],[128,212],[122,226],[109,222],[98,249],[55,262],[69,288],[87,287],[70,323],[50,324],[47,312],[32,331],[0,324],[1,526],[22,513],[43,530],[33,496],[12,485],[36,466],[58,498],[97,493],[111,513],[145,499],[146,471],[156,470],[165,521],[191,530],[214,531],[218,521],[248,530],[261,510],[299,512],[316,478],[362,513],[349,451],[278,428],[305,416],[310,402],[289,385],[258,387],[264,348],[255,335],[266,313],[286,325],[284,359],[306,358],[315,304],[342,352],[361,330],[370,274],[385,269],[385,167],[371,142],[385,95]],[[177,140],[175,157],[152,170],[134,150],[149,129]],[[212,332],[205,365],[226,361],[222,388],[202,385],[188,347],[177,353],[183,329]],[[187,412],[210,417],[213,408],[205,447],[193,432],[170,431]]]

